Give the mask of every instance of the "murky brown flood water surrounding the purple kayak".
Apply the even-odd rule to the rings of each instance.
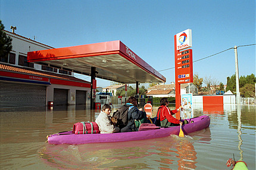
[[[120,143],[53,145],[46,136],[95,121],[89,106],[0,109],[0,169],[230,169],[229,158],[255,169],[255,105],[194,107],[194,117],[209,115],[209,128],[185,137],[171,135]],[[115,105],[114,109],[118,106]],[[153,107],[156,115],[157,106]],[[174,109],[174,105],[170,106]]]

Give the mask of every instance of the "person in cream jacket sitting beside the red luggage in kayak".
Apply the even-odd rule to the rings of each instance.
[[[95,120],[101,133],[117,133],[120,131],[120,128],[114,127],[114,125],[111,123],[110,112],[111,106],[108,104],[103,105],[101,113]]]

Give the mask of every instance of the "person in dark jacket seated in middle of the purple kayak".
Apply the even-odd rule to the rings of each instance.
[[[121,132],[130,132],[130,131],[138,131],[138,128],[135,125],[135,119],[139,120],[144,118],[146,115],[145,112],[142,111],[142,108],[137,108],[137,99],[133,96],[130,96],[126,101],[126,106],[129,107],[127,114],[127,125],[124,128],[121,128]]]

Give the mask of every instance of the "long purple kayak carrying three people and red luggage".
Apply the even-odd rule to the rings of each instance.
[[[186,119],[189,124],[182,125],[184,134],[202,130],[209,127],[210,118],[206,115]],[[108,143],[132,140],[145,140],[150,138],[167,137],[171,134],[179,135],[180,126],[157,128],[154,130],[143,130],[127,133],[108,133],[108,134],[71,134],[72,131],[51,134],[48,136],[49,144],[86,144],[86,143]]]

